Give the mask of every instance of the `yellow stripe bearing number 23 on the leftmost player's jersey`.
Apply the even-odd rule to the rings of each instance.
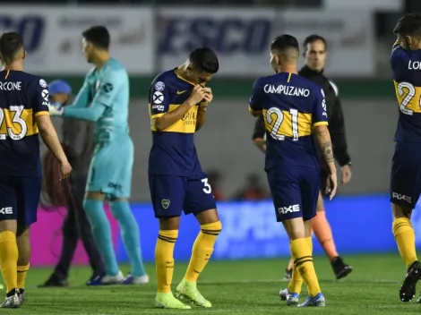
[[[0,115],[0,139],[8,136],[13,140],[21,140],[25,136],[39,133],[32,109],[21,109],[20,106],[16,106],[16,110],[13,110],[13,107],[0,110],[2,112]]]

